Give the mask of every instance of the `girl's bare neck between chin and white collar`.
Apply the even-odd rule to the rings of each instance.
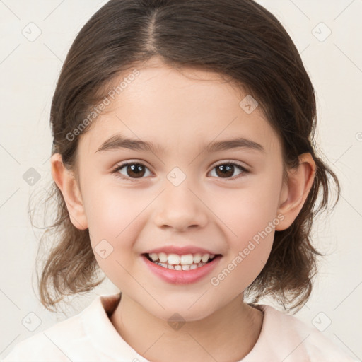
[[[122,295],[110,320],[138,354],[150,361],[239,361],[255,345],[263,313],[243,302],[243,294],[208,317],[171,328]]]

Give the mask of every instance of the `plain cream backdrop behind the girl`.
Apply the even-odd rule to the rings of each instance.
[[[0,0],[0,357],[96,295],[118,291],[106,280],[64,305],[64,312],[48,312],[35,294],[41,230],[33,230],[28,217],[30,194],[51,182],[49,110],[62,62],[106,2]],[[315,223],[314,243],[327,257],[296,316],[361,360],[362,1],[258,2],[281,21],[301,54],[317,93],[317,142],[342,186],[336,209]],[[31,182],[29,175],[35,175]]]

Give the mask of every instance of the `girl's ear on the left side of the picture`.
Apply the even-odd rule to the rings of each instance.
[[[62,155],[54,153],[50,159],[52,163],[52,177],[61,190],[71,223],[79,230],[88,228],[81,192],[74,174],[64,167]]]

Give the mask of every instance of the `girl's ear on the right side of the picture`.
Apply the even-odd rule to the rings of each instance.
[[[288,185],[284,184],[279,199],[278,214],[284,216],[275,230],[285,230],[296,219],[307,199],[315,177],[315,161],[310,153],[299,157],[297,168],[288,170]]]

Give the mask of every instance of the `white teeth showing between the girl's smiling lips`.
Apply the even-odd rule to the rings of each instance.
[[[209,264],[214,259],[221,257],[221,254],[166,254],[165,252],[152,252],[143,254],[148,261],[160,267],[178,271],[199,269]]]

